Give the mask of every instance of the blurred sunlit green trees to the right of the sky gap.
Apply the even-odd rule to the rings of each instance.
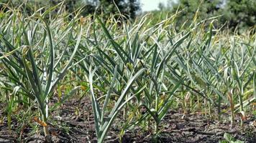
[[[219,16],[219,24],[216,25],[219,27],[227,24],[226,27],[234,30],[236,27],[247,29],[256,25],[255,0],[180,0],[178,4],[175,4],[175,0],[169,0],[165,11],[174,14],[177,9],[183,9],[176,19],[177,29],[184,23],[186,26],[186,21],[193,20],[197,10],[198,21]]]

